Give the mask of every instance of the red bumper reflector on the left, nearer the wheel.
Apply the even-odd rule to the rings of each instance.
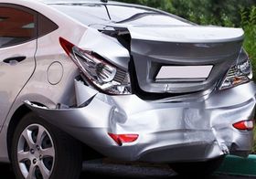
[[[125,142],[134,142],[139,137],[138,134],[114,134],[114,133],[109,133],[109,136],[111,136],[112,140],[120,146],[122,146],[123,143]]]

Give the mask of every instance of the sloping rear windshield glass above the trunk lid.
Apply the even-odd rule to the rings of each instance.
[[[129,25],[186,26],[190,24],[182,18],[168,16],[152,9],[136,6],[101,4],[62,4],[52,6],[87,26],[110,22]]]

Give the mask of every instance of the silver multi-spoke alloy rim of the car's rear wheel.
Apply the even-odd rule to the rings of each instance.
[[[55,162],[55,147],[46,128],[32,124],[20,134],[17,163],[26,179],[48,179]]]

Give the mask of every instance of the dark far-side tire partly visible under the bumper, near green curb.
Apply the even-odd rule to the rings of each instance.
[[[223,159],[224,156],[220,156],[207,162],[172,163],[169,165],[177,174],[183,176],[208,176],[219,168]]]

